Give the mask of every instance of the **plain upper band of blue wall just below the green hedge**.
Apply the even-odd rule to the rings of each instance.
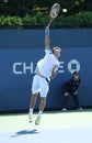
[[[51,46],[90,47],[92,29],[50,30]],[[39,48],[44,46],[44,30],[0,30],[0,48]]]

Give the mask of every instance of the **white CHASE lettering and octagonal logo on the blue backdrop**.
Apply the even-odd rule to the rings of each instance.
[[[27,73],[30,74],[35,74],[36,67],[35,67],[34,62],[30,63],[13,63],[13,74],[15,75],[25,75]],[[77,59],[71,59],[68,63],[66,62],[60,62],[60,67],[57,73],[66,73],[69,72],[73,74],[73,72],[79,72],[80,70],[80,63]]]

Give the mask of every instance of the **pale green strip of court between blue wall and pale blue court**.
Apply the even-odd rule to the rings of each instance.
[[[37,112],[34,113],[34,120]],[[0,116],[0,132],[30,129],[61,129],[73,127],[92,127],[92,110],[82,111],[45,111],[41,124],[28,123],[28,113],[11,113]]]

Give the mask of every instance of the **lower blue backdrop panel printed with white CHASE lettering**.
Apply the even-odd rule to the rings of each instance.
[[[44,56],[42,48],[0,50],[0,110],[28,109],[32,79],[36,62]],[[92,47],[62,48],[60,68],[50,82],[46,108],[61,108],[61,86],[80,72],[82,82],[79,99],[82,106],[92,106]],[[36,108],[38,108],[38,101]],[[69,106],[73,106],[69,101]]]

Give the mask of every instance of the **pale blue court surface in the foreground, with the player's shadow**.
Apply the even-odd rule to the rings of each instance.
[[[7,143],[92,143],[92,127],[22,130],[1,132],[0,142]]]

